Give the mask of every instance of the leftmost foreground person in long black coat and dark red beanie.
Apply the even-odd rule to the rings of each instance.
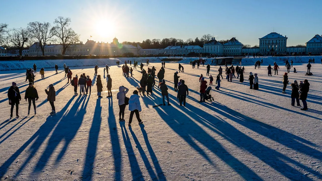
[[[18,110],[19,110],[19,103],[21,100],[20,91],[17,87],[17,84],[15,82],[12,82],[12,86],[8,90],[8,100],[9,105],[11,105],[10,109],[10,118],[12,118],[12,113],[14,110],[14,106],[16,106],[16,116],[19,117]]]

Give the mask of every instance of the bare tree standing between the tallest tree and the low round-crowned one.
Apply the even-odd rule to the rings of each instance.
[[[44,46],[48,41],[53,41],[53,31],[50,27],[50,23],[40,23],[40,22],[30,22],[28,24],[28,29],[30,31],[31,38],[38,41],[41,51],[43,52],[43,56],[45,55]]]

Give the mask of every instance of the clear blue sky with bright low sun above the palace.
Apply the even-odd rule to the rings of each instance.
[[[9,28],[29,22],[52,23],[70,17],[81,41],[142,42],[154,38],[236,37],[243,44],[277,32],[287,36],[287,46],[305,44],[322,34],[322,0],[15,0],[1,1],[0,23]]]

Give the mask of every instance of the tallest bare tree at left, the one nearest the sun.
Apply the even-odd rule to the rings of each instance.
[[[80,35],[69,28],[70,23],[70,18],[58,16],[54,21],[55,26],[52,27],[53,34],[57,36],[58,41],[62,43],[62,55],[65,55],[66,50],[71,44],[79,42]]]

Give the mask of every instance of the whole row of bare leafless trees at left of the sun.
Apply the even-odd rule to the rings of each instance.
[[[28,23],[25,28],[8,29],[8,25],[2,23],[0,24],[0,44],[8,48],[18,48],[19,55],[22,55],[24,47],[39,42],[38,46],[44,55],[44,46],[49,42],[56,42],[62,44],[64,55],[71,44],[79,42],[80,37],[69,27],[70,23],[70,18],[62,16],[54,20],[53,26],[48,22],[35,21]]]

